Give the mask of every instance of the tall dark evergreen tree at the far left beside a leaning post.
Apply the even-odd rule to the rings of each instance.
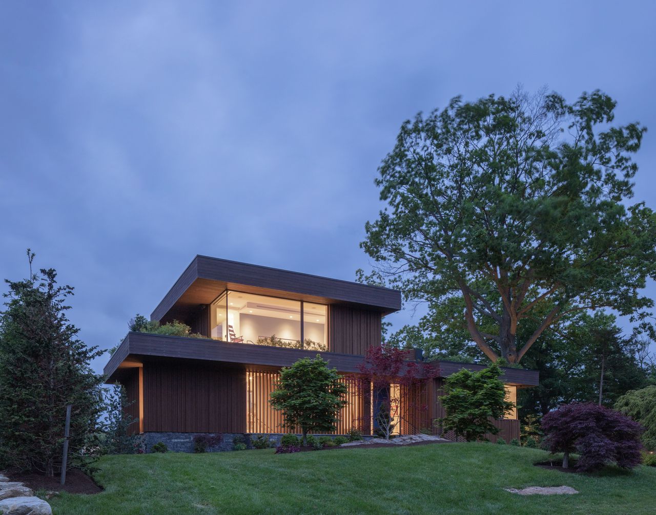
[[[0,313],[0,446],[11,467],[52,476],[61,470],[66,405],[72,404],[69,466],[97,451],[92,435],[102,412],[102,377],[89,365],[103,351],[77,338],[66,318],[71,286],[58,286],[54,269],[6,280]]]

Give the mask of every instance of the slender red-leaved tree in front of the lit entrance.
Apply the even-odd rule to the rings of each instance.
[[[364,361],[358,365],[359,375],[354,383],[359,395],[367,398],[366,392],[373,388],[375,394],[375,421],[385,440],[401,420],[411,423],[428,406],[420,402],[422,388],[437,375],[437,369],[424,364],[407,361],[407,354],[390,345],[372,345],[367,349]]]

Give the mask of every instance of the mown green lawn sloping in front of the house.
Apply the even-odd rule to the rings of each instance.
[[[495,444],[273,449],[108,456],[97,495],[51,499],[64,514],[653,514],[656,468],[594,475],[533,467],[538,449]],[[562,486],[579,495],[522,497],[503,487]]]

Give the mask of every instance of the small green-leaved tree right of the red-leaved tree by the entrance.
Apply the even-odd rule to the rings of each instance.
[[[499,428],[491,419],[501,419],[514,404],[506,401],[506,389],[499,379],[501,368],[496,363],[472,372],[463,368],[444,380],[441,403],[446,416],[443,430],[453,431],[468,442],[481,440],[483,434],[497,434]]]

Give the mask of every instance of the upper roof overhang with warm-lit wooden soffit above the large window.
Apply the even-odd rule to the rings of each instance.
[[[153,311],[152,320],[184,320],[224,290],[319,304],[348,304],[388,315],[401,309],[401,292],[340,279],[196,256]]]

